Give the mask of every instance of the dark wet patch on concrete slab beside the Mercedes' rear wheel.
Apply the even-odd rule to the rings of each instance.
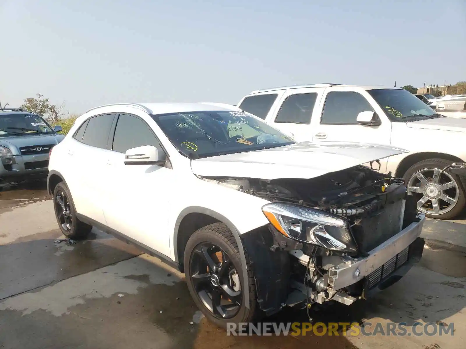
[[[59,230],[20,237],[0,245],[0,299],[81,275],[142,254],[137,248],[94,229],[75,245],[55,244]]]

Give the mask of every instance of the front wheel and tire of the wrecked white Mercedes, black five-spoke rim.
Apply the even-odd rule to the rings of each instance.
[[[216,264],[215,268],[208,267],[206,255],[211,257],[211,263]],[[221,264],[219,255],[221,255]],[[243,270],[238,244],[231,231],[223,223],[213,223],[200,228],[191,235],[186,244],[184,265],[189,292],[208,320],[219,327],[226,328],[228,322],[236,324],[253,322],[260,315],[256,302],[254,275],[246,251],[245,257],[248,285],[242,284]],[[222,266],[225,266],[225,269],[222,270]],[[196,277],[199,275],[203,277]],[[229,310],[224,305],[222,307],[228,310],[212,305],[214,293],[218,300],[217,304],[227,301],[228,293],[222,291],[226,287],[231,295],[233,295],[232,291],[238,293],[240,289],[239,295],[233,295],[235,298],[229,299],[233,310]],[[245,304],[244,292],[249,292],[249,308]]]

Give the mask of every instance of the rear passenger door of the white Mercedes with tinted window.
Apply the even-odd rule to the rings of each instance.
[[[73,134],[65,176],[76,212],[105,224],[103,216],[104,167],[110,128],[115,114],[90,117]]]

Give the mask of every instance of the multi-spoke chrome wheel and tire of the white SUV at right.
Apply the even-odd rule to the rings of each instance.
[[[444,172],[436,180],[433,175],[435,169],[442,170],[451,165],[452,162],[445,159],[419,161],[408,168],[403,176],[408,193],[412,193],[417,200],[425,201],[425,206],[421,207],[420,211],[425,213],[427,217],[452,219],[465,207],[465,192],[459,176],[450,172]],[[423,184],[418,176],[421,178],[424,176],[427,182]],[[450,188],[445,189],[445,186],[442,187],[442,184],[447,184]],[[410,188],[414,188],[414,191]],[[443,198],[446,198],[450,202],[444,201]],[[434,207],[434,202],[439,203],[439,209]]]

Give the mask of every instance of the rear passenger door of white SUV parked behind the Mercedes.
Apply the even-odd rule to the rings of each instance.
[[[312,115],[315,115],[321,100],[323,88],[287,90],[279,106],[267,118],[267,123],[290,135],[295,141],[312,141]]]

